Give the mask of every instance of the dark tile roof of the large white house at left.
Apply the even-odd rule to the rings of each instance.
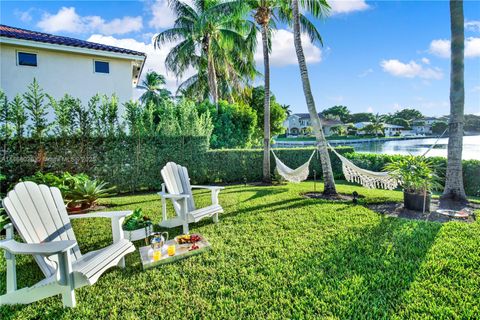
[[[107,46],[104,44],[89,42],[89,41],[75,39],[75,38],[56,36],[53,34],[48,34],[43,32],[10,27],[4,24],[0,24],[0,36],[7,37],[7,38],[21,39],[21,40],[30,40],[30,41],[36,41],[36,42],[59,44],[59,45],[64,45],[69,47],[94,49],[94,50],[124,53],[124,54],[131,54],[131,55],[145,57],[145,53],[143,52],[133,51],[133,50],[124,49],[124,48],[118,48],[114,46]]]

